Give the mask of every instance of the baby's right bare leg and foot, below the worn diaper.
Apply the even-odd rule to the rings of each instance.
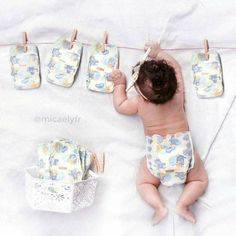
[[[208,184],[208,177],[202,160],[195,152],[195,164],[188,173],[182,195],[176,205],[176,212],[184,219],[196,223],[193,213],[189,210],[192,205],[205,191]]]

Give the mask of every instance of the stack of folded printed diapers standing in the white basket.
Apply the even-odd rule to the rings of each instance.
[[[55,139],[38,146],[38,177],[65,183],[86,177],[93,154],[65,139]]]

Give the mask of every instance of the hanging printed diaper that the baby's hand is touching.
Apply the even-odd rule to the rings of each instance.
[[[118,65],[118,48],[115,45],[97,43],[89,57],[87,88],[97,92],[112,93],[114,84],[111,72]]]

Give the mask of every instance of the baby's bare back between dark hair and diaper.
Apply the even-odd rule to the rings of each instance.
[[[161,105],[145,101],[142,97],[139,101],[138,113],[146,135],[165,136],[188,130],[183,93],[177,92],[173,99]]]

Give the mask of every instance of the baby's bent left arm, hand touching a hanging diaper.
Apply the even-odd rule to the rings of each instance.
[[[132,115],[138,112],[139,97],[128,98],[126,95],[126,79],[120,70],[112,72],[112,80],[114,82],[113,104],[119,113]]]

